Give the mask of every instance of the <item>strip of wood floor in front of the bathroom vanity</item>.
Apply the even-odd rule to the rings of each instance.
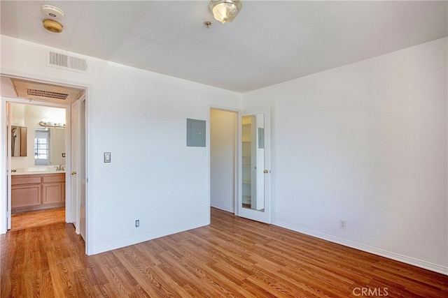
[[[40,225],[50,225],[52,223],[64,222],[65,207],[29,211],[11,215],[11,230],[22,230],[26,228],[38,227]]]

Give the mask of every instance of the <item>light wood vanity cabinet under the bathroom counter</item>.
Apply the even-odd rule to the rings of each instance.
[[[11,176],[13,213],[65,206],[65,173]]]

